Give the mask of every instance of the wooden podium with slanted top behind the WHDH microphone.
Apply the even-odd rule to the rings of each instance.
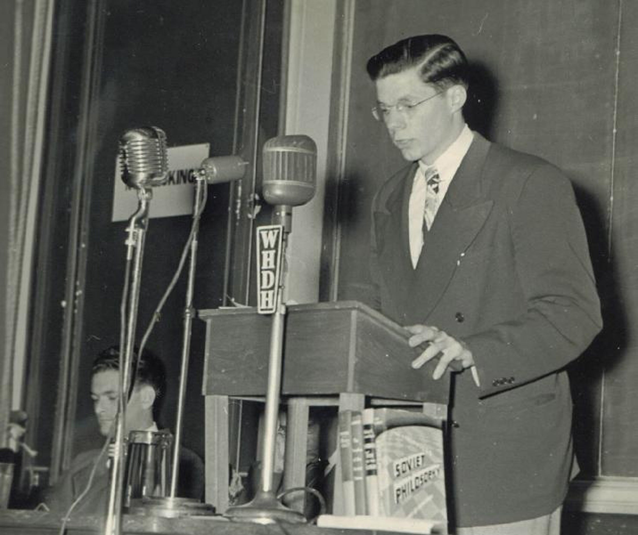
[[[260,398],[267,387],[271,317],[253,308],[200,310],[206,324],[204,395],[206,501],[228,508],[228,397]],[[288,405],[284,487],[303,487],[310,406],[361,410],[422,404],[445,420],[449,374],[413,370],[408,332],[359,302],[288,306],[281,395]],[[337,474],[339,476],[339,474]],[[335,505],[337,505],[337,499]],[[337,511],[338,512],[338,511]]]

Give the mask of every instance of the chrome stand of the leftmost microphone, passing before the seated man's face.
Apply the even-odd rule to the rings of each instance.
[[[119,362],[119,405],[115,419],[115,448],[111,466],[110,488],[108,492],[107,520],[105,535],[120,535],[122,529],[122,493],[124,491],[124,430],[126,426],[126,404],[128,403],[133,346],[135,345],[135,327],[142,280],[142,259],[144,258],[144,240],[149,222],[149,203],[152,191],[140,187],[137,190],[137,211],[130,217],[126,232],[126,280],[122,295],[122,332],[120,333]],[[133,263],[132,280],[130,265]],[[131,283],[128,292],[129,282]]]

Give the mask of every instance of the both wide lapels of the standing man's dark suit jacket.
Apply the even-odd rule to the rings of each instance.
[[[373,214],[383,282],[406,321],[424,321],[449,285],[457,260],[484,225],[493,202],[486,199],[491,177],[484,174],[489,143],[475,133],[427,236],[426,249],[412,268],[408,203],[417,164],[391,179]]]

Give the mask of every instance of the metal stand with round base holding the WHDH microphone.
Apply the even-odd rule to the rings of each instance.
[[[274,489],[274,463],[277,441],[277,417],[281,393],[281,365],[283,363],[283,339],[286,321],[286,305],[283,302],[283,287],[286,277],[286,246],[291,231],[292,207],[276,205],[273,223],[283,226],[281,242],[281,262],[279,270],[279,291],[275,312],[272,314],[271,345],[268,359],[268,383],[265,401],[265,419],[262,443],[262,476],[260,489],[255,497],[245,505],[228,508],[225,516],[231,520],[244,520],[258,524],[272,524],[283,520],[291,523],[306,522],[306,517],[283,505],[276,497]]]

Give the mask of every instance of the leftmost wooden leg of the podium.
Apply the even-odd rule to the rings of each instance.
[[[217,513],[228,509],[228,396],[205,401],[205,499]]]

